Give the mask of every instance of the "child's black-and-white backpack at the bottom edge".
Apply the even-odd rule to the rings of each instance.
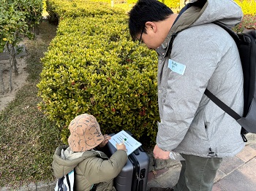
[[[58,179],[54,191],[73,191],[75,183],[75,169]],[[96,191],[97,184],[92,184],[90,191]]]

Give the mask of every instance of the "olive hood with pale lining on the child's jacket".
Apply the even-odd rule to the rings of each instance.
[[[53,173],[61,178],[72,171],[80,162],[89,157],[107,157],[103,152],[89,150],[86,152],[72,152],[69,146],[63,145],[56,149],[53,155]]]

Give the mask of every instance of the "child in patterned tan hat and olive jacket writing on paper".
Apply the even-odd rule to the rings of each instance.
[[[100,151],[110,136],[104,135],[96,118],[80,114],[69,124],[69,146],[60,146],[53,155],[53,173],[61,178],[75,168],[74,190],[115,191],[113,179],[127,163],[124,144],[116,144],[117,151],[108,158]]]

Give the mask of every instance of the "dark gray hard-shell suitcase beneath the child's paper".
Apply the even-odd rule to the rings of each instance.
[[[126,130],[127,131],[127,130]],[[132,133],[127,131],[129,135]],[[113,136],[114,133],[110,134]],[[106,155],[110,157],[116,152],[113,144],[106,145]],[[128,156],[128,160],[120,174],[114,179],[117,191],[146,191],[148,182],[149,157],[142,147],[136,149]]]

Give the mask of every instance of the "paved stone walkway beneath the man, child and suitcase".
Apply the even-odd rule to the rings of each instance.
[[[256,191],[256,134],[247,136],[248,144],[235,157],[225,158],[218,170],[212,191]],[[178,181],[181,164],[173,160],[150,157],[147,190],[150,187],[173,187]],[[20,191],[53,191],[56,182],[37,182],[18,188]],[[13,190],[8,187],[1,191]],[[121,190],[120,190],[121,191]]]

